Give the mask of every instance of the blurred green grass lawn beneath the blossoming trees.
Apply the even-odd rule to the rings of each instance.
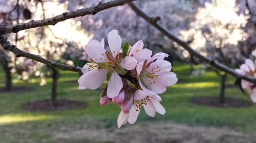
[[[214,72],[208,71],[205,75],[192,78],[189,74],[189,65],[175,63],[173,72],[180,81],[167,89],[162,94],[162,105],[166,109],[166,115],[157,115],[156,118],[147,116],[141,111],[136,124],[143,122],[166,122],[205,127],[227,127],[241,132],[256,132],[256,106],[249,108],[213,108],[189,103],[192,96],[218,96],[219,78]],[[103,89],[78,90],[76,83],[67,81],[77,80],[78,74],[61,72],[58,83],[58,98],[84,101],[87,108],[62,110],[51,112],[32,113],[22,109],[28,101],[44,100],[50,98],[51,79],[47,79],[46,86],[39,86],[39,79],[28,84],[18,82],[17,86],[31,86],[35,90],[23,93],[0,94],[0,142],[55,142],[52,132],[76,130],[84,127],[106,128],[115,130],[116,120],[120,109],[109,104],[100,106],[99,94]],[[0,73],[0,86],[3,86],[4,74]],[[228,83],[234,83],[232,77]],[[250,100],[239,89],[226,89],[226,95],[233,98]],[[86,122],[93,121],[90,125]],[[102,122],[104,124],[102,124]],[[129,127],[131,125],[126,125]],[[134,125],[132,125],[134,126]],[[85,140],[83,140],[85,142]]]

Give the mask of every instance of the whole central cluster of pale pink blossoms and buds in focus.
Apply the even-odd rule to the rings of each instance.
[[[176,74],[170,72],[171,63],[164,60],[168,54],[152,56],[151,50],[143,49],[142,40],[132,47],[129,47],[129,43],[122,45],[122,39],[115,29],[108,34],[108,45],[110,51],[104,48],[104,39],[100,42],[91,39],[85,45],[90,62],[82,69],[78,89],[97,89],[107,80],[100,104],[107,105],[112,101],[120,106],[118,127],[127,122],[134,124],[141,108],[152,117],[156,112],[164,115],[166,110],[160,104],[158,94],[177,82]]]

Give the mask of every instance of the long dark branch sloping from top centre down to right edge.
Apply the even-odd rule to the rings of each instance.
[[[216,62],[215,60],[212,60],[209,57],[205,57],[204,55],[196,52],[196,50],[192,49],[190,47],[189,44],[187,44],[186,42],[184,42],[183,40],[177,38],[175,35],[172,35],[165,27],[163,27],[161,24],[159,24],[157,21],[153,21],[152,19],[155,19],[154,17],[150,17],[148,16],[147,13],[143,12],[141,8],[139,8],[138,6],[136,6],[136,4],[134,4],[133,2],[128,3],[129,6],[133,9],[133,11],[140,17],[142,17],[145,21],[147,21],[149,24],[153,25],[153,27],[155,27],[156,29],[158,29],[162,34],[166,35],[169,39],[173,40],[173,42],[176,42],[178,45],[180,45],[181,47],[183,47],[185,50],[187,50],[187,52],[189,52],[191,55],[194,55],[194,57],[199,58],[200,60],[204,61],[207,64],[210,64],[211,67],[214,67],[216,69],[222,70],[230,75],[235,76],[235,78],[238,79],[244,79],[247,81],[250,81],[252,83],[256,84],[256,78],[253,78],[252,76],[245,76],[245,75],[241,75],[237,72],[235,72],[235,70],[219,63]],[[159,18],[158,18],[159,19]]]

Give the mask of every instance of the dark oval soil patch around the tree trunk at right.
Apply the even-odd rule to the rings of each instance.
[[[213,106],[217,108],[240,108],[253,105],[251,101],[235,98],[225,98],[225,103],[220,103],[219,97],[215,96],[195,96],[190,99],[190,102],[193,104]]]

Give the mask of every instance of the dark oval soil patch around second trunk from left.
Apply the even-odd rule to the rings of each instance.
[[[24,109],[28,111],[55,111],[66,109],[85,108],[86,103],[74,100],[58,100],[55,105],[50,100],[32,101],[24,105]]]

